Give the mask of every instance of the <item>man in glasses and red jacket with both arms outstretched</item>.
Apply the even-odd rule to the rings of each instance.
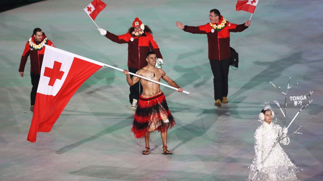
[[[209,45],[209,60],[213,72],[215,106],[228,103],[228,74],[230,66],[230,32],[242,32],[250,25],[250,21],[244,24],[232,24],[221,16],[220,11],[212,9],[209,15],[210,23],[201,26],[187,26],[176,22],[176,26],[185,32],[195,34],[207,34]]]

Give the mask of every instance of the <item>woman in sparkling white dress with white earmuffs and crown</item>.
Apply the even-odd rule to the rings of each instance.
[[[283,134],[280,143],[283,145],[289,144],[287,136],[287,128],[282,129],[279,125],[272,122],[275,113],[270,105],[265,102],[264,109],[259,114],[259,119],[262,120],[262,125],[255,132],[255,158],[250,166],[250,174],[248,180],[251,180],[255,173],[257,175],[253,180],[257,181],[297,181],[297,167],[290,161],[283,148],[276,144],[272,153],[270,152],[277,139]],[[284,138],[285,137],[285,138]]]

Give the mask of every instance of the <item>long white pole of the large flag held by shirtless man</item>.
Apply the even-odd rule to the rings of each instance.
[[[91,18],[91,19],[92,19],[92,18]],[[71,53],[71,52],[67,52],[67,51],[65,51],[65,50],[61,50],[61,49],[56,48],[56,47],[52,47],[52,46],[49,46],[49,45],[46,45],[46,44],[44,44],[44,46],[45,46],[46,48],[53,49],[53,50],[56,50],[56,51],[58,51],[58,52],[62,52],[62,53],[68,54],[68,55],[73,55],[74,57],[77,57],[77,58],[79,58],[79,59],[83,59],[83,60],[86,60],[86,61],[89,61],[89,62],[92,62],[92,63],[98,64],[98,65],[102,65],[102,66],[103,66],[103,65],[105,65],[105,66],[107,66],[107,67],[110,67],[110,68],[113,68],[113,69],[116,69],[116,70],[119,70],[119,71],[123,71],[122,69],[119,69],[119,68],[117,68],[117,67],[114,67],[114,66],[111,66],[111,65],[108,65],[108,64],[105,64],[105,63],[101,63],[101,62],[98,62],[98,61],[95,61],[95,60],[92,60],[92,59],[89,59],[89,58],[86,58],[86,57],[82,57],[82,56],[80,56],[80,55],[77,55],[77,54],[74,54],[74,53]],[[140,77],[140,78],[142,78],[142,79],[146,79],[147,81],[152,81],[152,82],[154,82],[154,83],[157,83],[157,84],[160,84],[160,85],[163,85],[163,86],[169,87],[169,88],[174,89],[174,90],[178,90],[178,88],[172,87],[172,86],[170,86],[170,85],[167,85],[167,84],[164,84],[164,83],[161,83],[161,82],[158,82],[158,81],[154,81],[154,80],[148,79],[147,77],[142,77],[142,76],[137,75],[137,74],[135,74],[135,73],[131,73],[131,72],[129,72],[129,74],[134,75],[134,76],[137,76],[137,77]],[[186,93],[186,94],[190,94],[189,92],[184,91],[184,90],[183,90],[183,92],[184,92],[184,93]]]

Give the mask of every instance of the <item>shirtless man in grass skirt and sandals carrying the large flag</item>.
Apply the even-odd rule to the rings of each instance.
[[[183,92],[175,81],[169,78],[162,69],[155,67],[157,57],[155,52],[148,52],[146,55],[148,65],[138,70],[136,74],[146,77],[148,79],[160,82],[161,79],[166,81],[170,86],[178,88],[179,92]],[[167,130],[175,125],[175,120],[168,109],[165,96],[160,90],[160,84],[139,78],[137,76],[129,76],[129,71],[124,70],[127,75],[127,82],[130,86],[140,80],[142,85],[142,94],[139,97],[135,117],[132,123],[131,132],[134,133],[135,138],[145,138],[146,147],[142,151],[143,155],[150,153],[149,137],[150,133],[154,131],[161,132],[161,139],[163,144],[162,154],[171,155],[172,151],[167,149]]]

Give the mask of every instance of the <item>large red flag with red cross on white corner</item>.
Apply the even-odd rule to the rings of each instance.
[[[49,132],[73,94],[103,64],[46,46],[27,140],[37,132]]]

